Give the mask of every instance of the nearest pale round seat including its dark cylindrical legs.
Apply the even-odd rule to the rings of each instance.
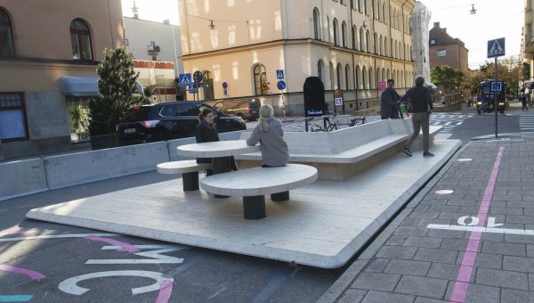
[[[312,184],[317,176],[317,168],[287,164],[277,168],[247,168],[206,176],[200,180],[200,187],[206,192],[243,197],[243,216],[261,219],[266,216],[266,194],[271,194],[271,201],[287,201],[289,190]]]

